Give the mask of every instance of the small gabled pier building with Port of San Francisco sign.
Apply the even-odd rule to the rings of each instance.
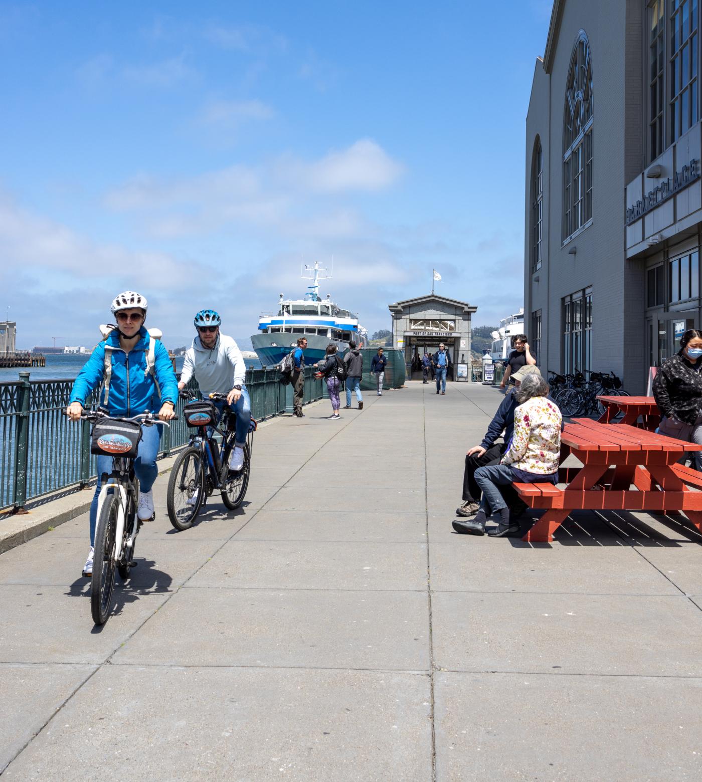
[[[436,353],[441,343],[451,357],[452,368],[455,364],[470,365],[470,319],[477,307],[436,293],[398,301],[388,307],[392,316],[392,344],[405,354],[408,378],[422,377],[424,351]]]

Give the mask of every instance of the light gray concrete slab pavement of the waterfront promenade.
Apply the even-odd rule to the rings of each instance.
[[[102,629],[87,515],[0,555],[4,776],[699,779],[702,538],[592,512],[551,544],[455,535],[499,400],[413,382],[282,418],[244,507],[184,533],[160,477]]]

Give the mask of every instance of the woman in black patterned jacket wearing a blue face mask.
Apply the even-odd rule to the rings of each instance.
[[[702,443],[702,332],[690,328],[680,350],[658,368],[653,396],[664,416],[662,435]],[[695,468],[702,470],[702,452],[694,452]]]

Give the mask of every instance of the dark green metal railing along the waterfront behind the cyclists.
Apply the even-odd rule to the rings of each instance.
[[[314,368],[304,370],[304,401],[310,404],[326,396],[326,386],[315,378]],[[63,414],[73,387],[70,380],[31,380],[20,372],[19,382],[0,382],[0,511],[23,511],[28,500],[44,494],[83,488],[97,474],[90,453],[90,427],[69,421]],[[247,371],[251,414],[257,421],[292,411],[292,386],[283,386],[275,369]],[[194,380],[189,388],[197,391]],[[89,401],[98,404],[98,393]],[[182,418],[184,400],[178,400],[178,421],[163,427],[160,457],[183,447],[190,430]]]

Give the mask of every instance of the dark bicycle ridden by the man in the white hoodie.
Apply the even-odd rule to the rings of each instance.
[[[214,405],[215,401],[226,401],[226,394],[211,393],[209,399],[203,400],[184,389],[181,396],[189,400],[183,410],[185,422],[196,431],[171,470],[167,508],[171,524],[182,531],[193,526],[214,490],[221,492],[221,500],[230,511],[242,504],[249,485],[257,423],[251,418],[243,447],[243,467],[235,472],[229,469],[229,456],[234,449],[236,412],[225,406],[217,421],[218,411]],[[221,436],[221,450],[214,438],[215,432]]]

